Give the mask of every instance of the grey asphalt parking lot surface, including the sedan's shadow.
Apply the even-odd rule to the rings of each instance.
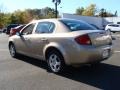
[[[120,90],[120,36],[113,36],[114,54],[99,66],[68,67],[53,74],[40,60],[12,58],[8,36],[0,34],[0,90]]]

